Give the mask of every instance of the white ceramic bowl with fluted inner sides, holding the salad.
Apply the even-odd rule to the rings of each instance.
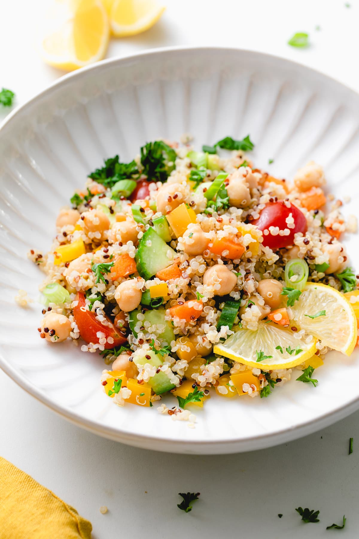
[[[266,54],[218,48],[103,61],[66,75],[15,110],[0,129],[0,367],[73,423],[160,451],[268,447],[358,409],[357,349],[350,358],[330,353],[315,373],[316,388],[293,380],[265,399],[214,396],[195,412],[194,430],[154,408],[120,409],[101,391],[100,356],[39,338],[43,275],[26,258],[32,247],[47,251],[59,208],[103,158],[118,153],[130,160],[146,141],[179,140],[184,133],[195,136],[198,148],[250,133],[255,163],[288,179],[299,165],[316,160],[325,167],[329,190],[351,196],[344,214],[355,213],[358,112],[358,94],[325,75]],[[356,237],[346,243],[358,268]],[[19,288],[36,303],[17,306]]]

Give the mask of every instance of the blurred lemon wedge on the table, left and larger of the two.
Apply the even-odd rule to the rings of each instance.
[[[109,22],[101,0],[55,0],[48,11],[40,54],[66,71],[101,60],[108,46]]]

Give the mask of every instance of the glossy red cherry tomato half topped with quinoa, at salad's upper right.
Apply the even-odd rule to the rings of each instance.
[[[292,214],[294,219],[294,228],[288,227],[286,223],[286,219],[290,214]],[[307,221],[304,214],[297,206],[293,206],[293,204],[287,208],[284,201],[269,202],[266,204],[265,208],[259,213],[259,218],[251,221],[251,224],[256,225],[259,230],[262,230],[262,245],[270,247],[273,250],[293,245],[294,234],[297,232],[305,234],[307,231]],[[279,231],[287,229],[290,233],[287,236],[281,236],[279,233],[273,236],[270,232],[269,234],[264,234],[264,230],[269,230],[270,226],[278,227]]]

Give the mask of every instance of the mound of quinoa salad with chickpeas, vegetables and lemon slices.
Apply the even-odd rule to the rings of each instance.
[[[314,388],[328,350],[353,352],[359,275],[341,240],[356,219],[319,164],[290,182],[253,148],[195,151],[186,136],[109,158],[61,209],[50,250],[29,253],[45,274],[39,337],[100,354],[116,405],[193,426],[210,397],[269,397],[291,377]]]

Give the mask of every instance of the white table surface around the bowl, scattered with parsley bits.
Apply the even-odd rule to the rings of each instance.
[[[359,90],[359,2],[348,1],[350,8],[344,0],[167,0],[156,26],[139,36],[112,39],[108,57],[168,45],[238,46],[299,61]],[[13,89],[17,104],[62,74],[44,65],[35,50],[44,4],[0,0],[0,87]],[[298,31],[310,34],[309,49],[286,45]],[[0,371],[0,455],[76,507],[93,523],[95,539],[120,534],[131,539],[357,537],[358,419],[359,412],[307,438],[252,453],[155,453],[67,423]],[[349,437],[354,438],[351,455]],[[188,490],[201,495],[185,514],[177,508],[177,493]],[[103,505],[109,509],[105,515],[99,511]],[[321,522],[301,522],[298,506],[320,509]],[[326,531],[343,514],[346,528]]]

